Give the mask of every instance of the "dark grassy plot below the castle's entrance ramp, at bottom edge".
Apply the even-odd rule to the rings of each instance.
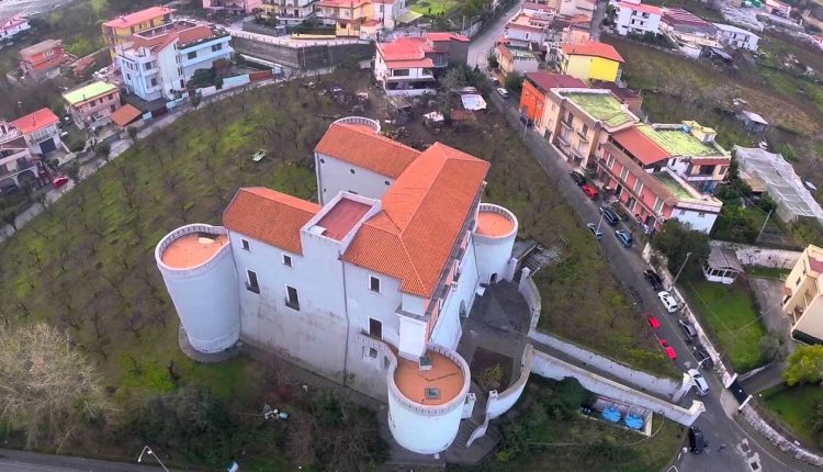
[[[662,471],[674,460],[685,441],[684,428],[655,415],[652,437],[625,428],[584,417],[579,404],[557,392],[560,382],[532,377],[522,398],[506,418],[501,450],[517,436],[520,446],[511,459],[503,461],[503,452],[471,468],[480,472],[503,471]],[[564,414],[557,414],[557,402]],[[566,409],[566,407],[570,407]],[[512,416],[517,415],[514,419]],[[570,446],[571,445],[571,446]],[[454,468],[456,471],[470,469]]]

